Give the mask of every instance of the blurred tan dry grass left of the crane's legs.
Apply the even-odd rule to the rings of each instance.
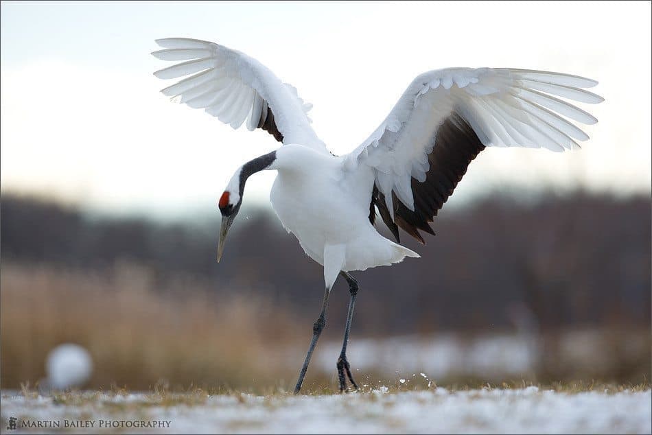
[[[148,390],[161,379],[175,389],[272,385],[283,374],[266,355],[265,325],[274,325],[279,344],[290,342],[287,314],[251,296],[218,298],[197,283],[173,287],[182,290],[164,294],[128,264],[100,273],[3,263],[2,388],[36,384],[47,352],[62,342],[93,356],[89,388]]]

